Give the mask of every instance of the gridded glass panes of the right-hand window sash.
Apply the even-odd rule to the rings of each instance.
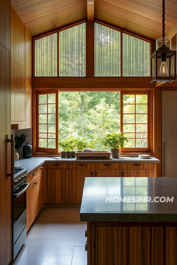
[[[147,148],[148,116],[145,114],[148,110],[148,101],[146,100],[147,95],[138,95],[138,97],[136,96],[137,95],[123,95],[123,102],[125,102],[123,103],[123,133],[125,133],[126,137],[128,138],[128,143],[125,143],[124,147]],[[146,104],[140,103],[141,97],[143,102],[147,102]],[[134,99],[134,104],[127,103],[134,101]],[[138,112],[140,109],[139,105],[142,106],[141,111],[143,111],[143,113]],[[130,122],[131,120],[132,122]]]

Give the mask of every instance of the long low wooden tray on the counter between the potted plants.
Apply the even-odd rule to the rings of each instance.
[[[109,151],[79,152],[75,153],[77,159],[110,159]]]

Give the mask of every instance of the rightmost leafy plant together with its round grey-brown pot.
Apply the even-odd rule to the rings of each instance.
[[[120,148],[124,146],[124,141],[128,142],[124,133],[119,132],[112,134],[107,134],[106,137],[101,141],[104,146],[109,146],[111,148],[112,158],[119,158]]]

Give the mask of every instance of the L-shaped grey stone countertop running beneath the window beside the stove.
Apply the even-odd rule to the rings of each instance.
[[[14,162],[15,167],[21,167],[27,169],[29,175],[32,171],[36,170],[44,163],[160,163],[155,157],[149,159],[142,159],[138,157],[120,157],[110,158],[109,160],[78,160],[76,158],[61,158],[61,157],[32,157],[21,158]]]

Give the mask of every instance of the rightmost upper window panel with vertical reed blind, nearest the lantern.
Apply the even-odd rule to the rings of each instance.
[[[123,76],[150,75],[150,43],[123,33]]]

